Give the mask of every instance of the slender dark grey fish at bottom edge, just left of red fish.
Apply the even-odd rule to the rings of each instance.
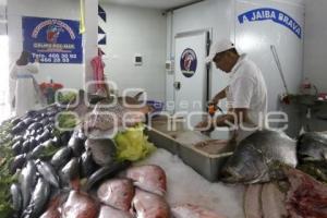
[[[39,218],[48,203],[50,189],[50,184],[44,178],[38,179],[31,203],[24,210],[22,218]]]

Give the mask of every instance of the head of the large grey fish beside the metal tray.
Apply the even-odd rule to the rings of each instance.
[[[221,180],[227,183],[255,183],[267,175],[268,166],[259,150],[249,144],[240,147],[230,157],[221,171]]]

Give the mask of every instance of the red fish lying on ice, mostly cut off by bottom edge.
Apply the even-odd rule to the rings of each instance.
[[[223,218],[214,211],[190,204],[174,207],[171,210],[174,218]]]

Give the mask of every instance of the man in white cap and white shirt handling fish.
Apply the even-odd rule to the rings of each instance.
[[[218,105],[227,98],[228,113],[201,122],[196,128],[213,130],[213,126],[235,124],[234,137],[238,142],[257,128],[263,128],[267,112],[267,88],[258,66],[246,55],[239,55],[228,39],[211,47],[206,62],[214,62],[217,69],[230,75],[228,86],[211,99],[214,105]]]

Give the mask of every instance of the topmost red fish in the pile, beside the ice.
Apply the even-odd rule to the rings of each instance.
[[[155,194],[164,195],[167,191],[167,178],[162,168],[155,165],[128,169],[126,178],[137,187]]]

